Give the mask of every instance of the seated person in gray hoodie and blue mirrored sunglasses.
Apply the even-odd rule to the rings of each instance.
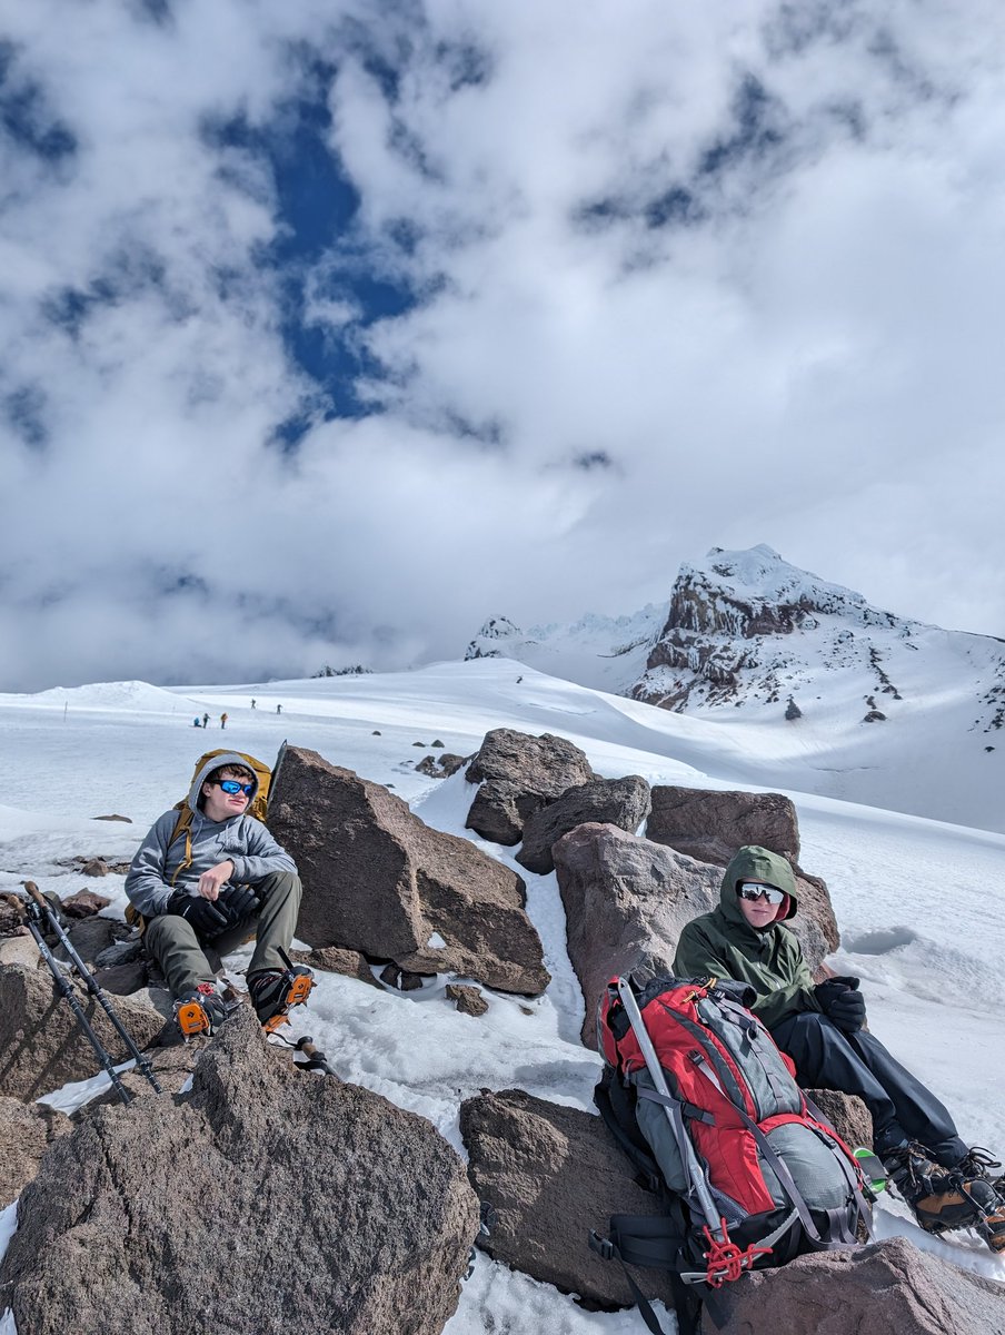
[[[266,1028],[282,1023],[312,985],[310,969],[283,960],[300,908],[300,878],[290,854],[247,814],[256,790],[258,778],[242,756],[224,752],[207,760],[187,798],[191,828],[172,840],[179,813],[164,812],[125,877],[129,902],[147,920],[143,941],[168,981],[175,1015],[195,1016],[191,1031],[183,1032],[214,1033],[227,1019],[207,947],[226,955],[255,934],[247,983]]]

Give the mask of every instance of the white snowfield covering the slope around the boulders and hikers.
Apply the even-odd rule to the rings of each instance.
[[[523,677],[519,685],[517,676]],[[194,729],[192,718],[204,709],[215,721],[226,709],[227,730]],[[47,692],[44,698],[0,696],[9,804],[0,806],[0,890],[27,877],[60,896],[87,885],[112,897],[107,914],[121,916],[124,877],[87,880],[72,870],[71,860],[99,854],[128,861],[149,824],[187,790],[195,758],[212,748],[232,746],[272,762],[288,738],[392,785],[428,825],[472,838],[525,878],[553,981],[531,1001],[483,987],[488,1012],[472,1019],[446,1000],[447,976],[406,995],[319,975],[291,1036],[310,1032],[343,1079],[428,1117],[463,1155],[459,1105],[480,1088],[517,1085],[593,1111],[599,1073],[599,1059],[578,1041],[583,999],[566,951],[554,873],[533,876],[515,862],[517,849],[464,830],[474,789],[463,770],[447,780],[415,773],[423,754],[442,754],[430,748],[432,740],[467,756],[499,726],[569,737],[610,777],[637,773],[650,782],[730,788],[755,786],[739,776],[770,770],[757,786],[787,792],[795,801],[801,862],[827,881],[842,930],[833,963],[862,977],[870,1027],[948,1103],[965,1139],[1005,1149],[998,1076],[1005,1061],[998,985],[1005,836],[799,793],[799,766],[763,746],[757,756],[745,753],[750,733],[743,729],[709,728],[531,669],[521,672],[506,659],[386,677],[178,692],[143,682],[99,684]],[[416,741],[424,744],[422,752]],[[92,818],[111,813],[132,824]],[[250,948],[228,956],[227,968],[238,980],[248,959]],[[45,1101],[72,1109],[105,1085],[101,1073],[53,1091]],[[9,1207],[0,1212],[0,1255],[13,1228]],[[953,1243],[930,1238],[898,1202],[881,1202],[877,1231],[905,1234],[957,1266],[1005,1280],[1005,1260],[992,1256],[976,1235],[957,1234]],[[673,1330],[673,1316],[661,1318]],[[447,1335],[522,1335],[537,1328],[629,1335],[641,1328],[641,1319],[634,1311],[586,1312],[553,1287],[479,1254]],[[0,1335],[15,1335],[9,1314],[0,1319]]]

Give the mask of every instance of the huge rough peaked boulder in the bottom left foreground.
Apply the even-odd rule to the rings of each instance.
[[[100,1108],[51,1147],[0,1307],[19,1335],[436,1335],[476,1230],[424,1117],[296,1071],[242,1008],[183,1103]]]

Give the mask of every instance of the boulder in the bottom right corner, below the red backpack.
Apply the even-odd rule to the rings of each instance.
[[[1001,1335],[1001,1284],[950,1266],[906,1238],[797,1256],[754,1271],[706,1307],[705,1335]]]

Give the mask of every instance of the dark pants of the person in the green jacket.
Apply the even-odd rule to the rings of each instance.
[[[877,1153],[916,1140],[945,1167],[968,1151],[938,1099],[890,1056],[872,1033],[845,1033],[823,1015],[806,1011],[782,1020],[771,1037],[795,1063],[801,1085],[857,1093],[873,1115]]]

